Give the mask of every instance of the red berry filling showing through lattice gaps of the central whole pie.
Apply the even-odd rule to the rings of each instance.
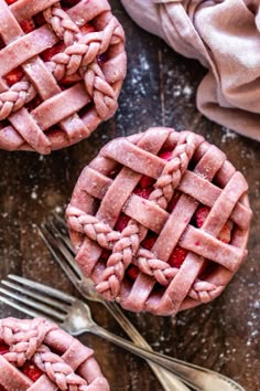
[[[164,150],[159,156],[162,159],[169,161],[172,158],[172,152],[169,150]],[[133,192],[134,192],[134,194],[148,200],[150,194],[154,190],[154,188],[153,188],[154,183],[155,183],[155,180],[153,178],[150,178],[148,176],[142,176]],[[169,213],[171,213],[173,211],[180,197],[181,197],[181,193],[178,191],[175,191],[172,200],[170,201],[170,203],[167,205]],[[202,228],[209,211],[210,211],[210,209],[208,207],[199,205],[197,211],[195,212],[194,219],[191,223],[193,223],[197,228]],[[118,221],[117,221],[115,230],[122,232],[123,229],[127,226],[129,220],[130,220],[129,216],[121,213]],[[231,240],[231,231],[232,231],[232,223],[230,221],[228,221],[224,225],[224,228],[221,229],[218,239],[220,241],[223,241],[224,243],[229,243]],[[154,243],[156,242],[156,237],[158,236],[154,233],[148,232],[147,237],[141,243],[142,247],[144,247],[147,250],[152,250]],[[176,247],[173,250],[173,252],[169,258],[169,264],[172,267],[180,268],[182,266],[187,253],[188,253],[187,250],[181,247],[180,245],[176,245]],[[107,261],[110,254],[111,254],[111,252],[104,251],[101,258]],[[205,262],[202,266],[202,270],[199,272],[199,276],[204,275],[205,273],[209,273],[213,270],[213,266],[214,265],[210,261],[205,260]],[[132,264],[127,270],[127,276],[131,281],[134,281],[138,277],[139,273],[140,273],[139,268]]]

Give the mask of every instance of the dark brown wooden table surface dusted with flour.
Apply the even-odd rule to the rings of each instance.
[[[212,304],[176,317],[127,315],[155,350],[220,371],[247,391],[260,390],[259,144],[204,118],[195,108],[195,92],[205,70],[139,29],[119,1],[111,4],[127,35],[128,76],[119,110],[89,139],[51,156],[0,151],[0,276],[15,273],[75,293],[39,237],[36,225],[52,211],[64,213],[79,172],[108,140],[155,125],[194,129],[223,149],[249,182],[254,212],[249,256]],[[104,307],[91,308],[96,320],[123,336]],[[0,305],[0,317],[10,315],[22,317]],[[141,359],[91,335],[80,339],[96,350],[111,390],[162,391]]]

